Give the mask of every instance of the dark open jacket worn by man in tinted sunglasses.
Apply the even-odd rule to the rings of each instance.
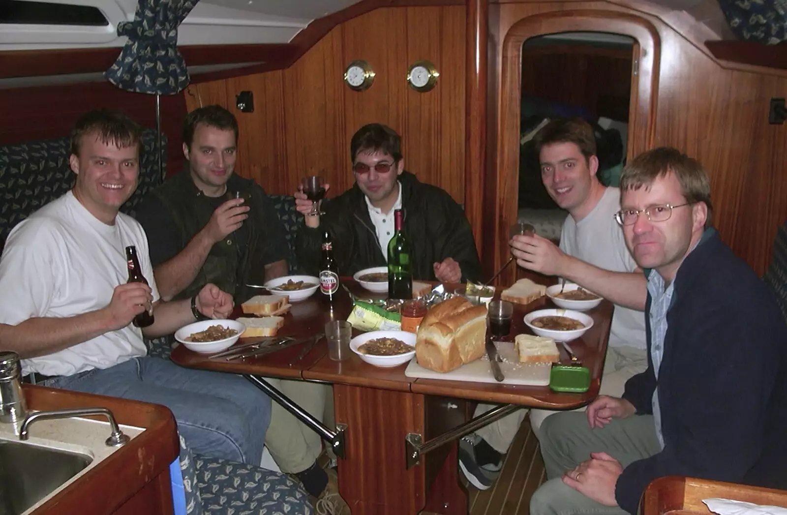
[[[435,280],[435,262],[453,258],[462,269],[462,280],[480,280],[481,264],[470,224],[461,206],[431,184],[422,183],[409,172],[399,176],[402,208],[405,209],[405,235],[412,246],[412,278]],[[354,184],[336,198],[323,202],[319,228],[302,226],[297,233],[298,264],[306,273],[317,275],[320,244],[325,228],[331,232],[334,258],[339,274],[352,276],[359,270],[386,266],[375,224],[369,217],[364,193]]]

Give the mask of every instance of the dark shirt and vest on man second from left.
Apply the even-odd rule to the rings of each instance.
[[[214,283],[233,295],[236,302],[257,295],[246,284],[264,283],[265,269],[286,258],[286,240],[279,217],[265,191],[253,180],[233,175],[227,191],[251,195],[251,207],[238,231],[214,244],[194,281],[174,297],[190,298],[206,283]],[[217,201],[205,197],[191,180],[188,169],[168,179],[142,202],[137,218],[145,228],[153,266],[178,254],[208,224]],[[241,243],[242,250],[238,249]]]

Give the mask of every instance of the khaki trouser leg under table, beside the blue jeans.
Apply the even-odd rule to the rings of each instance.
[[[265,378],[292,402],[323,421],[325,398],[331,386],[307,381]],[[282,472],[297,474],[314,465],[323,450],[320,435],[307,428],[278,402],[271,402],[271,424],[265,433],[265,446]]]

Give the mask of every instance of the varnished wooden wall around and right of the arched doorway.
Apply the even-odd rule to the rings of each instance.
[[[634,130],[629,140],[637,148],[645,142],[648,146],[675,146],[699,159],[711,176],[715,226],[722,239],[757,273],[763,273],[770,262],[777,228],[787,220],[787,126],[767,121],[770,98],[784,97],[787,78],[773,69],[734,69],[715,61],[700,43],[690,39],[692,34],[678,34],[658,17],[625,7],[624,3],[503,3],[494,28],[499,34],[498,51],[502,53],[504,36],[512,25],[539,13],[560,15],[567,10],[603,9],[634,15],[652,24],[660,39],[660,63],[654,64],[656,81],[649,106],[652,120],[631,124]],[[502,63],[503,58],[497,61],[498,80]],[[512,85],[501,87],[493,123],[505,128],[510,127],[512,116],[505,101],[510,96],[506,88]],[[637,117],[636,113],[631,116],[632,120]],[[650,135],[641,134],[643,131]],[[510,159],[503,152],[502,139],[501,134],[497,144],[500,174]],[[507,188],[512,186],[515,184]],[[516,217],[512,203],[505,205],[511,207],[499,214],[501,228],[508,227]],[[498,254],[495,264],[501,265],[506,259],[508,254]]]

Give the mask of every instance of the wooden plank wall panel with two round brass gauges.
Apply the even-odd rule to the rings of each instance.
[[[292,193],[302,176],[321,172],[331,195],[353,184],[349,140],[363,124],[390,125],[402,136],[405,168],[464,202],[464,6],[375,9],[330,31],[289,69],[189,87],[188,109],[219,103],[238,117],[238,173],[266,191]],[[343,83],[350,61],[375,69],[367,91]],[[427,93],[408,87],[409,65],[434,62],[441,73]],[[235,95],[254,92],[254,113]]]

